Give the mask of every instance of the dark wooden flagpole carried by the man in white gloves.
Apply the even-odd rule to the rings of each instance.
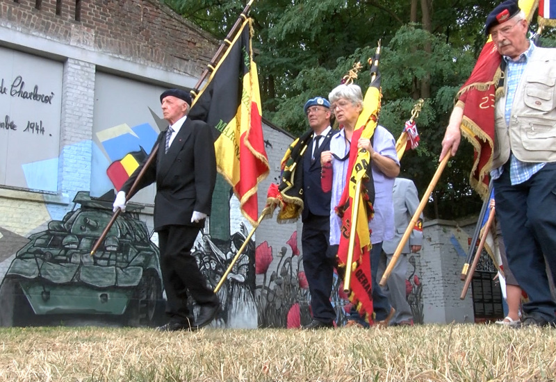
[[[190,93],[193,96],[193,102],[192,102],[191,107],[193,107],[193,105],[195,105],[195,99],[197,97],[197,91],[199,91],[199,88],[201,87],[202,83],[204,82],[206,77],[214,71],[214,69],[216,67],[216,64],[218,64],[218,61],[220,60],[220,56],[222,56],[222,52],[224,51],[224,49],[226,47],[228,47],[231,44],[231,40],[234,40],[233,39],[234,35],[236,35],[236,33],[238,32],[239,26],[243,23],[243,21],[245,21],[247,19],[247,13],[249,13],[251,5],[254,1],[255,0],[250,0],[249,3],[247,3],[247,5],[245,6],[245,8],[243,8],[243,11],[238,16],[238,19],[236,20],[236,23],[234,24],[234,26],[231,27],[231,30],[229,31],[228,35],[226,36],[226,38],[224,38],[224,41],[222,42],[222,44],[220,44],[220,47],[218,47],[218,50],[216,51],[213,58],[211,59],[211,62],[206,65],[206,69],[204,69],[204,72],[201,74],[201,77],[199,78],[199,81],[197,81],[197,83],[195,84],[195,88],[190,90]],[[135,189],[137,188],[137,185],[139,184],[139,181],[144,176],[145,171],[147,171],[147,168],[152,163],[154,158],[156,158],[157,154],[158,154],[158,143],[153,147],[151,153],[149,153],[149,157],[145,161],[145,165],[143,165],[141,171],[139,172],[135,181],[131,185],[131,188],[129,189],[129,192],[126,194],[126,203],[129,201],[129,199],[131,199],[131,197],[129,195],[133,195],[133,191],[135,191]],[[106,228],[104,229],[104,231],[102,231],[101,235],[99,236],[99,238],[95,242],[95,245],[92,247],[91,254],[90,254],[91,256],[93,256],[95,254],[95,252],[97,251],[97,249],[99,249],[101,242],[103,242],[104,238],[106,238],[106,235],[108,235],[108,231],[110,231],[110,229],[112,228],[113,224],[116,221],[116,218],[118,217],[118,215],[120,215],[120,212],[122,212],[122,210],[120,210],[120,208],[117,208],[115,213],[112,215],[112,218],[110,219],[110,222],[108,222],[108,224],[106,225]]]

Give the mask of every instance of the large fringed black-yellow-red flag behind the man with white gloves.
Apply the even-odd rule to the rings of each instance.
[[[234,188],[243,215],[256,224],[257,185],[269,167],[251,34],[251,19],[246,19],[195,97],[189,117],[213,126],[218,172]]]

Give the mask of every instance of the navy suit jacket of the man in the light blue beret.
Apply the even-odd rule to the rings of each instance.
[[[320,146],[315,149],[314,158],[311,158],[313,150],[313,138],[307,143],[307,149],[303,154],[303,212],[302,221],[309,216],[309,211],[313,215],[329,216],[330,215],[330,199],[332,192],[323,192],[320,187],[320,153],[330,149],[330,138],[336,133],[330,129]],[[321,140],[323,138],[320,138]]]

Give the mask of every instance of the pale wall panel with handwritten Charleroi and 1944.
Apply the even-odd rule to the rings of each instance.
[[[0,184],[56,192],[63,64],[5,47],[0,62]]]

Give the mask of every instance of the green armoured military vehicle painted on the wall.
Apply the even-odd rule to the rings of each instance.
[[[79,208],[76,206],[79,205]],[[109,202],[78,192],[74,209],[29,236],[0,285],[1,326],[58,324],[104,316],[129,326],[155,324],[162,302],[160,252],[140,206],[130,206],[97,241],[112,217]]]

